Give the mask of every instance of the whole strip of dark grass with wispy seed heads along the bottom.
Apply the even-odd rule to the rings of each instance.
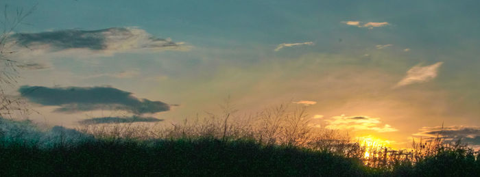
[[[460,141],[437,137],[414,141],[409,151],[372,150],[348,134],[309,128],[304,109],[282,105],[242,118],[225,111],[171,126],[130,122],[76,129],[0,118],[0,176],[480,174],[479,154]]]

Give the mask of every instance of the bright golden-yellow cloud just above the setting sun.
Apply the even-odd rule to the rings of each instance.
[[[396,128],[392,128],[389,124],[379,126],[381,124],[380,118],[370,118],[368,116],[350,116],[345,115],[334,116],[325,120],[329,129],[346,129],[352,131],[376,131],[394,132],[398,131]]]

